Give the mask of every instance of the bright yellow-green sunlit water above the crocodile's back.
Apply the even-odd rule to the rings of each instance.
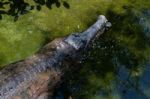
[[[27,2],[33,3],[30,0]],[[47,40],[83,31],[96,20],[99,14],[107,17],[107,13],[111,10],[115,14],[124,15],[130,8],[136,10],[133,13],[138,14],[139,11],[149,7],[149,2],[146,0],[68,0],[66,2],[69,8],[64,6],[58,8],[52,5],[52,9],[48,9],[42,6],[40,11],[32,10],[20,16],[16,22],[12,17],[3,15],[0,22],[0,65],[24,59],[41,48]],[[115,15],[109,17],[111,20]],[[123,21],[127,26],[122,24],[121,27],[130,25],[127,21],[131,15],[126,17],[127,20]],[[122,20],[115,21],[114,27]],[[120,31],[123,32],[122,29]],[[119,33],[115,34],[118,39],[129,42],[130,38],[122,37]],[[134,43],[134,40],[132,39],[130,43]]]

